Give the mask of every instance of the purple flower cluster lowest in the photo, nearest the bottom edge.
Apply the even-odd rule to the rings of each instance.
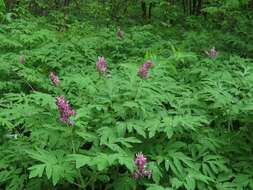
[[[142,153],[136,154],[134,163],[138,168],[138,170],[133,173],[134,179],[139,179],[144,176],[147,176],[148,178],[151,177],[151,170],[146,170],[147,158]]]

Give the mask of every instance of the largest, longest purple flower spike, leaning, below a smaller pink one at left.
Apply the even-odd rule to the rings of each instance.
[[[76,112],[70,107],[69,102],[65,100],[63,96],[58,96],[56,98],[56,105],[58,106],[58,110],[60,112],[61,122],[74,125],[75,122],[71,121],[69,117],[75,115]]]

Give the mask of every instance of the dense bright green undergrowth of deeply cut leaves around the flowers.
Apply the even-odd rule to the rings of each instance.
[[[90,24],[66,33],[42,21],[4,25],[0,187],[253,189],[253,62],[226,44],[214,44],[211,59],[203,51],[211,35],[177,39],[146,25],[126,28],[121,39],[113,27]],[[109,74],[96,69],[98,56]],[[148,59],[149,77],[141,78]],[[59,121],[58,96],[76,111],[73,126]],[[133,178],[138,152],[150,178]]]

